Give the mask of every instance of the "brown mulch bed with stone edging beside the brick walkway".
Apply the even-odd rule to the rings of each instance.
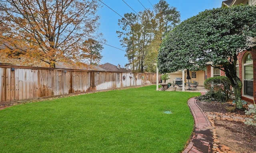
[[[214,124],[219,151],[227,147],[230,153],[256,153],[256,126],[241,121],[246,116],[243,110],[232,109],[232,102],[197,101],[197,104]]]

